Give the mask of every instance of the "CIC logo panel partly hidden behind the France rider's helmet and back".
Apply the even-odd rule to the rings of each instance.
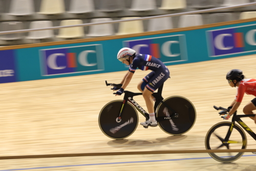
[[[123,46],[134,49],[136,54],[152,55],[163,63],[187,60],[184,34],[123,41]]]

